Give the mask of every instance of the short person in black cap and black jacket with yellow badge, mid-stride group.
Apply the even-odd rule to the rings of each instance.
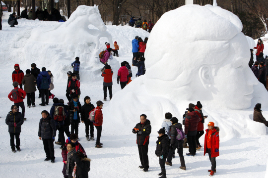
[[[156,141],[155,150],[155,155],[159,156],[159,164],[161,167],[161,173],[159,173],[158,176],[161,176],[160,178],[166,178],[165,162],[168,156],[168,135],[166,134],[165,129],[160,129],[158,134],[159,136],[157,137],[158,140]]]

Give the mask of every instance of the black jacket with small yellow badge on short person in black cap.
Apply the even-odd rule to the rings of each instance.
[[[156,156],[161,156],[163,155],[164,157],[168,156],[168,135],[164,134],[162,136],[157,137],[158,140],[156,141],[156,150],[155,154]]]

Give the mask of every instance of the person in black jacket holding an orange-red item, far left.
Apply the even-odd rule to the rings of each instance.
[[[18,112],[16,105],[11,106],[11,111],[6,115],[5,124],[8,126],[8,132],[10,135],[10,146],[12,152],[15,153],[14,137],[16,138],[16,148],[20,151],[20,139],[19,134],[21,133],[21,125],[23,124],[23,116]]]

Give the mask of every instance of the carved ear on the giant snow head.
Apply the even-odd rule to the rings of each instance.
[[[203,87],[209,89],[213,81],[211,67],[209,65],[202,65],[199,69],[199,77]]]

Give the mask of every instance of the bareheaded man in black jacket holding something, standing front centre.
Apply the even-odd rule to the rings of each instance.
[[[144,172],[147,172],[149,169],[149,159],[148,159],[148,145],[151,134],[151,122],[147,120],[145,114],[140,115],[140,122],[136,124],[132,130],[133,134],[137,134],[137,146],[138,154],[141,166],[138,168],[143,169]]]

